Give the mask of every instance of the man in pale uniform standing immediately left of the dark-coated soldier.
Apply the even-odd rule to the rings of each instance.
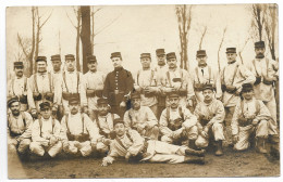
[[[104,74],[97,70],[95,55],[87,56],[88,72],[83,76],[81,95],[85,110],[88,110],[91,120],[96,118],[97,100],[102,98]]]

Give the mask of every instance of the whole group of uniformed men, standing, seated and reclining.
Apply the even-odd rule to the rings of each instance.
[[[236,48],[226,49],[227,65],[216,73],[205,50],[196,53],[198,65],[179,68],[174,52],[156,50],[140,54],[142,69],[135,76],[123,68],[120,52],[111,53],[114,67],[108,75],[97,70],[95,55],[87,56],[88,72],[75,68],[75,56],[36,58],[36,73],[23,74],[14,62],[15,77],[8,82],[8,144],[20,156],[34,153],[54,157],[107,155],[127,160],[201,162],[205,150],[216,145],[223,155],[223,141],[236,151],[247,150],[250,136],[257,151],[279,141],[274,82],[279,66],[264,57],[264,42],[255,43],[256,57],[244,66],[236,62]]]

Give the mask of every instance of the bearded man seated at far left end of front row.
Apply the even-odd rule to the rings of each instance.
[[[26,112],[20,112],[21,103],[17,96],[8,101],[11,113],[8,116],[8,147],[25,156],[32,142],[30,126],[33,117]]]

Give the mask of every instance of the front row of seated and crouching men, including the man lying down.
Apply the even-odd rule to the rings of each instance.
[[[157,120],[149,107],[140,106],[140,94],[132,94],[132,108],[123,119],[109,113],[106,99],[98,100],[95,121],[81,113],[78,95],[69,100],[70,113],[61,123],[52,117],[51,104],[40,104],[40,117],[33,121],[26,112],[20,112],[17,98],[8,101],[9,147],[25,156],[28,148],[38,156],[54,157],[62,150],[70,155],[89,156],[94,151],[108,154],[102,166],[112,164],[118,156],[130,159],[167,162],[204,162],[202,148],[214,140],[216,155],[223,155],[222,141],[225,112],[214,99],[212,84],[202,88],[204,102],[194,115],[179,104],[179,94],[169,95],[170,106]],[[257,151],[267,153],[266,140],[272,119],[264,104],[254,98],[253,86],[243,84],[241,101],[232,119],[234,150],[249,147],[249,135],[255,133]],[[161,140],[161,141],[158,141]]]

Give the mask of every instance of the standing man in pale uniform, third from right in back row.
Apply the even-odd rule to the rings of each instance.
[[[211,83],[217,89],[216,98],[221,99],[221,83],[218,74],[207,64],[207,53],[206,50],[197,51],[197,62],[198,66],[195,67],[190,73],[192,81],[194,84],[196,101],[204,101],[202,87],[206,83]]]

